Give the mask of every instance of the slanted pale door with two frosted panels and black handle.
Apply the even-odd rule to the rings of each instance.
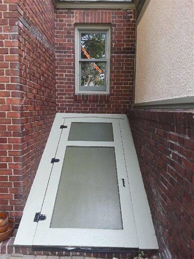
[[[32,245],[137,248],[119,120],[64,125]]]

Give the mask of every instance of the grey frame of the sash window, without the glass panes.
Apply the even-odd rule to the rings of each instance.
[[[81,33],[105,33],[105,59],[99,59],[99,62],[105,62],[105,86],[103,90],[92,90],[93,86],[81,86],[81,62],[98,62],[97,59],[81,59]],[[109,94],[110,93],[110,62],[111,61],[111,25],[78,24],[75,25],[75,94]]]

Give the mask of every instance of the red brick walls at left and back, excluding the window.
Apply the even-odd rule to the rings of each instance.
[[[125,113],[133,100],[135,11],[55,10],[2,0],[0,210],[19,223],[56,112]],[[112,24],[110,95],[74,95],[74,24]]]

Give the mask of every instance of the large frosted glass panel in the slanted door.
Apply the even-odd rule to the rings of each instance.
[[[51,228],[122,229],[113,147],[67,147]]]

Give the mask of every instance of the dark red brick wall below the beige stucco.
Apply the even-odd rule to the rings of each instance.
[[[163,257],[193,259],[194,111],[131,109],[128,116]]]

